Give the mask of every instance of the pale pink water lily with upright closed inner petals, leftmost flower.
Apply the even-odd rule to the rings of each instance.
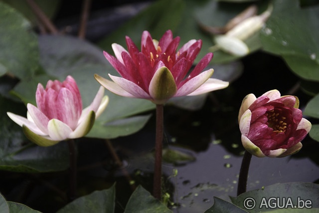
[[[109,98],[101,86],[90,106],[82,110],[79,88],[71,76],[63,82],[49,80],[45,89],[38,84],[36,106],[27,104],[27,118],[7,112],[23,128],[28,139],[39,146],[52,146],[66,139],[85,136],[106,108]]]

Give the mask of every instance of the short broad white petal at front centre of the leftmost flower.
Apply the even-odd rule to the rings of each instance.
[[[69,138],[72,129],[57,119],[51,119],[48,123],[49,136],[53,141],[63,141]]]

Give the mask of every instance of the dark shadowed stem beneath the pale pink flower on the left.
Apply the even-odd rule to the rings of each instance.
[[[76,150],[75,143],[73,139],[68,140],[69,146],[69,159],[70,159],[70,168],[69,168],[69,200],[73,201],[76,198]]]

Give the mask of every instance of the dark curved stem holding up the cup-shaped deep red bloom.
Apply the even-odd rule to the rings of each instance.
[[[245,151],[243,161],[241,162],[240,172],[239,172],[237,196],[246,192],[247,178],[248,178],[248,171],[249,171],[251,157],[252,155],[249,152]]]

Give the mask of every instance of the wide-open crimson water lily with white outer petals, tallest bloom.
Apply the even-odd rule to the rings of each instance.
[[[206,54],[189,72],[198,55],[202,41],[190,40],[178,51],[179,37],[167,30],[159,41],[148,31],[141,39],[141,51],[126,36],[128,50],[113,43],[115,57],[104,52],[106,59],[122,77],[109,74],[111,80],[95,74],[96,80],[111,92],[132,98],[143,98],[164,104],[171,97],[199,95],[228,86],[228,82],[210,78],[213,69],[202,70],[213,54]]]

